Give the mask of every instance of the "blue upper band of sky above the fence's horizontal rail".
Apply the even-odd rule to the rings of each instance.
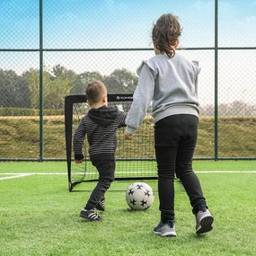
[[[213,47],[214,5],[213,0],[43,0],[44,47],[151,47],[152,23],[162,13],[180,17],[181,46]],[[37,49],[39,1],[1,0],[0,25],[0,49]],[[256,45],[256,0],[219,1],[219,45]]]

